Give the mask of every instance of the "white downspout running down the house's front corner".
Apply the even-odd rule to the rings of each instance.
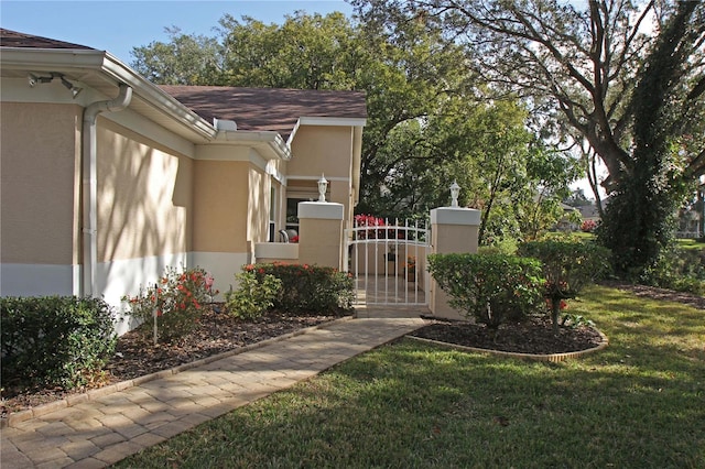
[[[97,101],[84,110],[83,122],[83,295],[98,291],[98,150],[96,122],[101,112],[119,112],[132,100],[132,88],[120,84],[120,92],[112,100]]]

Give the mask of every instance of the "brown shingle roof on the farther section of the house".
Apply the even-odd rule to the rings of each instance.
[[[238,130],[274,131],[289,138],[301,117],[367,118],[365,92],[312,89],[162,86],[205,120],[234,120]]]

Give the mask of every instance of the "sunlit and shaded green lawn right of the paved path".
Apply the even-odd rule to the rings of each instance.
[[[403,339],[118,467],[705,467],[705,312],[606,287],[571,312],[609,347],[538,363]]]

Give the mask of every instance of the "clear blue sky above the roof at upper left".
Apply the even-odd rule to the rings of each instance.
[[[343,0],[228,0],[228,1],[17,1],[0,0],[0,25],[7,30],[108,51],[130,64],[133,47],[167,42],[165,28],[185,34],[216,36],[218,20],[229,13],[264,23],[282,23],[296,10],[352,15]]]

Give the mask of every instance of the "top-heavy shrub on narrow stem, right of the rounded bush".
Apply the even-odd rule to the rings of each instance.
[[[605,279],[610,272],[609,250],[589,241],[531,241],[521,244],[519,253],[539,259],[543,265],[546,280],[544,295],[555,332],[565,301],[574,298],[585,285]]]

